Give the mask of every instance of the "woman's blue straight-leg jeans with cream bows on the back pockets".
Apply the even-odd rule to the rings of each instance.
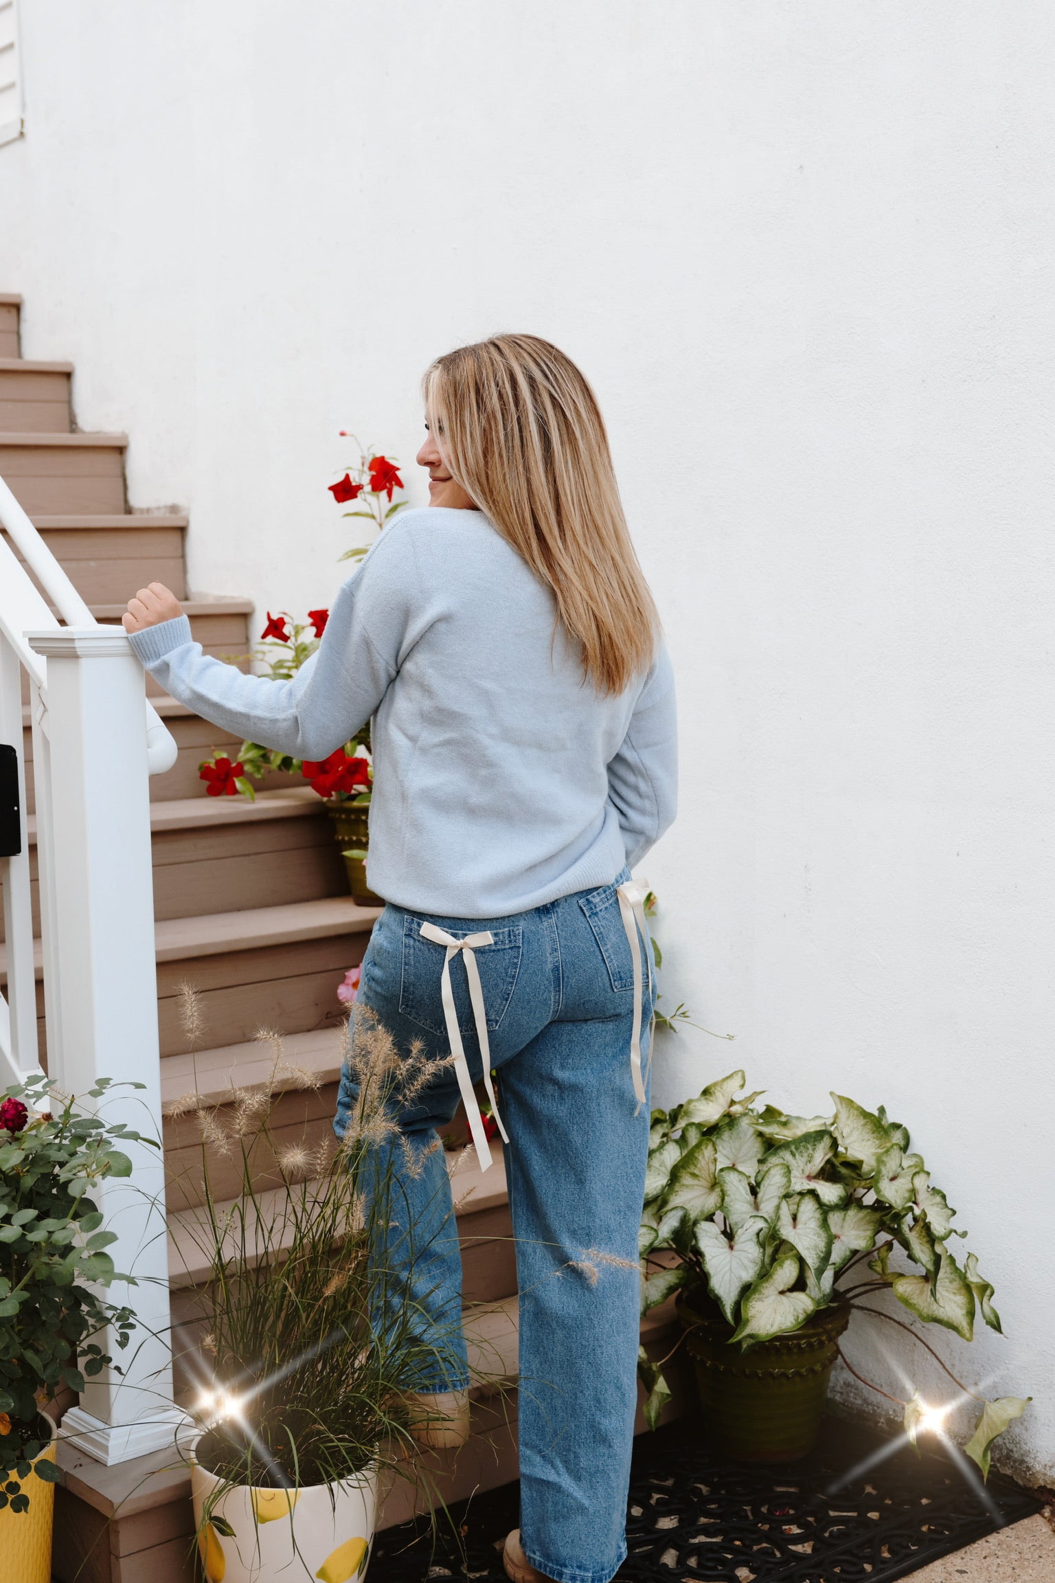
[[[625,1555],[633,1445],[641,1277],[637,1225],[644,1200],[649,1107],[637,1107],[630,1069],[633,959],[615,885],[563,896],[506,918],[440,918],[386,907],[362,964],[359,999],[400,1050],[424,1042],[446,1054],[440,975],[443,947],[422,921],[454,936],[489,929],[476,948],[487,1007],[498,1107],[509,1133],[506,1175],[520,1292],[520,1542],[558,1583],[607,1583]],[[650,947],[645,942],[645,950]],[[470,1072],[481,1078],[465,966],[451,964]],[[649,1054],[649,1004],[642,1057]],[[342,1078],[335,1129],[354,1089]],[[400,1183],[418,1243],[414,1295],[443,1330],[460,1314],[462,1263],[435,1129],[457,1110],[448,1067],[400,1129],[422,1160]],[[399,1156],[399,1151],[395,1151]],[[397,1233],[399,1236],[400,1233]],[[389,1244],[399,1260],[406,1239]],[[604,1257],[617,1263],[606,1263]],[[465,1358],[462,1342],[462,1366]],[[456,1390],[468,1371],[418,1384]]]

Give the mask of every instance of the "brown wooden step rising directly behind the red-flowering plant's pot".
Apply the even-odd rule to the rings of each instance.
[[[264,792],[255,803],[240,796],[155,801],[150,831],[158,920],[348,894],[334,826],[304,782],[289,792]],[[28,839],[33,931],[40,934],[35,814]]]

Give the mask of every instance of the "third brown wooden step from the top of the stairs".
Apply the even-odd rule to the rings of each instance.
[[[125,434],[0,434],[0,478],[30,516],[123,513]]]

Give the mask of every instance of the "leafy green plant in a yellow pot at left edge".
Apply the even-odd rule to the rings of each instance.
[[[51,1580],[59,1469],[44,1407],[112,1363],[93,1339],[104,1327],[120,1347],[133,1328],[131,1311],[101,1295],[130,1277],[114,1270],[106,1247],[117,1238],[90,1197],[93,1183],[131,1173],[125,1141],[157,1146],[62,1099],[46,1076],[0,1099],[0,1555],[13,1583]]]

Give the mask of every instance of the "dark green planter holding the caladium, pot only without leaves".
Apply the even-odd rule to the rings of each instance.
[[[826,1308],[802,1330],[761,1341],[747,1352],[739,1344],[729,1346],[732,1327],[704,1293],[680,1296],[677,1311],[696,1368],[707,1433],[718,1450],[740,1463],[792,1463],[808,1456],[849,1309]]]

